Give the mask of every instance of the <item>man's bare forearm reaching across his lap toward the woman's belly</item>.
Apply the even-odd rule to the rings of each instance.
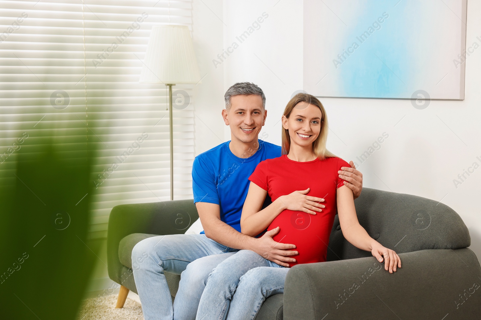
[[[256,240],[253,237],[238,232],[230,225],[218,219],[212,219],[208,222],[209,230],[204,228],[205,236],[230,248],[234,249],[252,249]]]

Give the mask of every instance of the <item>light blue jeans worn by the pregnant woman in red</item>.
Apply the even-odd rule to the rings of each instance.
[[[240,250],[209,275],[196,319],[254,319],[268,296],[284,292],[288,271],[251,250]]]

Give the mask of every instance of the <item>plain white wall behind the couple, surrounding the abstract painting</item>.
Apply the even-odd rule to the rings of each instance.
[[[268,116],[261,132],[268,134],[267,141],[279,144],[278,119],[292,93],[303,89],[303,1],[205,0],[204,3],[194,0],[194,13],[200,15],[194,18],[194,41],[201,57],[201,73],[209,72],[203,80],[202,95],[196,96],[196,114],[215,134],[196,122],[196,153],[217,145],[220,140],[230,140],[228,127],[220,117],[222,97],[231,84],[240,81],[257,83],[266,93]],[[240,43],[236,36],[263,12],[268,17],[259,30]],[[466,38],[469,45],[474,41],[479,43],[476,36],[481,37],[480,15],[481,3],[469,1]],[[234,41],[239,47],[215,69],[212,59]],[[473,162],[481,164],[476,158],[481,158],[480,64],[481,50],[476,50],[466,61],[464,101],[431,101],[423,110],[402,99],[323,98],[322,102],[331,128],[328,148],[346,161],[360,164],[356,156],[367,151],[383,132],[389,134],[381,148],[359,165],[365,187],[415,194],[447,204],[468,226],[470,248],[481,260],[481,216],[477,202],[481,168],[457,188],[453,183]]]

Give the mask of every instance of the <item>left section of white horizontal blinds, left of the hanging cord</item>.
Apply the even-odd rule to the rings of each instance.
[[[77,118],[85,116],[85,94],[70,84],[80,80],[70,70],[83,68],[82,7],[0,5],[0,172],[15,180],[20,149],[30,155],[52,141],[65,157],[86,155],[88,132]]]

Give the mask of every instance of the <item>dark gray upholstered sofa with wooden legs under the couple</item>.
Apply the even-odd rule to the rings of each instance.
[[[270,296],[256,319],[481,319],[481,268],[459,215],[433,200],[364,188],[355,200],[359,223],[402,268],[388,273],[370,252],[342,236],[336,215],[328,261],[296,265],[284,294]],[[137,292],[131,252],[156,235],[184,233],[198,217],[192,200],[126,204],[112,209],[108,272],[121,284],[117,307]],[[180,276],[165,273],[175,297]]]

